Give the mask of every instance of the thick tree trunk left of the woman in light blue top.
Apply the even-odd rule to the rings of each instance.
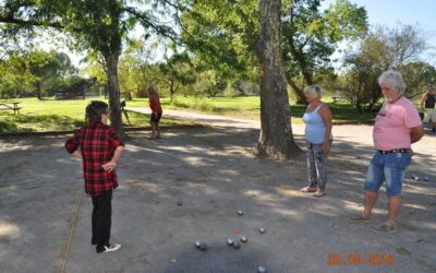
[[[261,135],[257,153],[277,159],[296,156],[289,118],[289,97],[281,50],[281,0],[261,0],[261,38],[257,57],[261,63]]]

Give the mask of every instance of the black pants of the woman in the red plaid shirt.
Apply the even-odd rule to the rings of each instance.
[[[110,225],[112,215],[112,190],[105,191],[93,199],[93,237],[90,242],[97,245],[97,252],[105,250],[105,246],[109,245]]]

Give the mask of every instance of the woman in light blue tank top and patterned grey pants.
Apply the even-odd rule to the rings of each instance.
[[[320,98],[323,90],[317,85],[304,88],[308,103],[303,121],[306,124],[307,143],[307,178],[308,186],[302,192],[314,192],[314,197],[323,197],[327,185],[327,154],[331,145],[331,111]]]

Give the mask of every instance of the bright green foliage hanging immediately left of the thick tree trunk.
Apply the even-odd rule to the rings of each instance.
[[[182,23],[181,38],[195,55],[196,69],[216,70],[221,79],[257,78],[257,1],[194,1]]]

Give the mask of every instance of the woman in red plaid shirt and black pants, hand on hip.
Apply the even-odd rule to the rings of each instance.
[[[92,102],[86,107],[88,124],[65,142],[66,151],[82,159],[85,191],[93,200],[90,242],[97,253],[112,252],[121,245],[111,245],[112,189],[118,187],[116,166],[124,143],[113,127],[108,126],[109,110],[104,102]],[[80,150],[78,150],[80,147]]]

